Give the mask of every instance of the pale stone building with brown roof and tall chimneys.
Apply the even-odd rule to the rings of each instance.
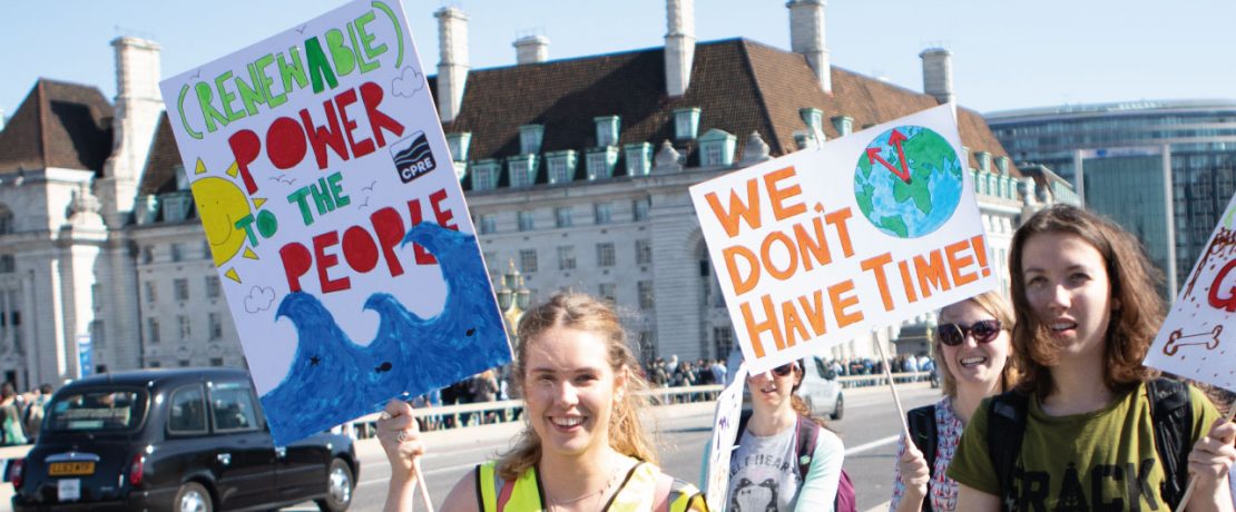
[[[937,105],[831,67],[823,4],[787,5],[795,30],[811,36],[796,43],[808,58],[745,40],[696,45],[682,0],[667,9],[672,56],[654,48],[494,69],[468,68],[467,16],[436,12],[442,74],[430,87],[494,279],[514,265],[533,301],[564,288],[612,298],[644,357],[724,357],[735,340],[687,188]],[[94,364],[110,370],[245,365],[156,108],[158,46],[114,46],[114,103],[95,88],[40,80],[0,131],[0,378],[20,387],[79,375],[85,335]],[[667,83],[666,70],[680,68],[685,79]],[[1007,164],[978,114],[958,117],[1002,270],[1012,229],[1051,194]],[[923,320],[886,334],[908,338]],[[870,356],[873,343],[832,355]]]

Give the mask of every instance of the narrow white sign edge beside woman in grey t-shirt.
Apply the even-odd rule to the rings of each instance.
[[[712,417],[712,444],[708,445],[708,475],[705,481],[705,500],[709,511],[726,510],[729,492],[729,458],[734,454],[738,420],[743,413],[743,395],[747,386],[747,365],[734,371],[734,381],[717,396],[717,412]]]

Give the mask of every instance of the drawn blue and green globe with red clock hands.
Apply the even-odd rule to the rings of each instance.
[[[923,126],[897,126],[859,157],[854,199],[880,231],[917,239],[953,216],[963,183],[962,162],[948,140]]]

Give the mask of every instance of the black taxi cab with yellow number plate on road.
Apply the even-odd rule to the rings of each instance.
[[[345,435],[274,446],[247,372],[177,369],[66,385],[10,476],[16,512],[344,511],[358,471]]]

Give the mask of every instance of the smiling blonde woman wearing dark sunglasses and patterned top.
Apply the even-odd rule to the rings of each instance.
[[[958,510],[957,482],[946,472],[979,402],[1010,390],[1017,381],[1010,357],[1010,329],[1012,308],[995,292],[939,310],[933,352],[939,360],[944,398],[907,414],[915,443],[900,440],[890,511]],[[932,448],[934,453],[922,453]]]

